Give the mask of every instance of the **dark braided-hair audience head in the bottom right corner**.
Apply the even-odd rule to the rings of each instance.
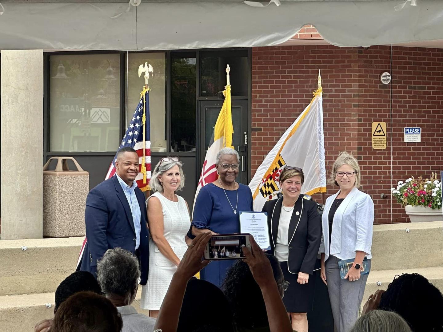
[[[378,309],[398,313],[414,332],[443,331],[443,296],[424,276],[412,273],[394,279]]]

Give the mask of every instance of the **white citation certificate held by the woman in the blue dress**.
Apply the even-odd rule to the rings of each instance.
[[[268,213],[240,211],[240,232],[254,236],[261,249],[271,250],[268,230]]]

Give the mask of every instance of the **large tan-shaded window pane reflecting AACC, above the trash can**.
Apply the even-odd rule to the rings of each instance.
[[[120,55],[50,57],[50,151],[113,151],[120,142]]]

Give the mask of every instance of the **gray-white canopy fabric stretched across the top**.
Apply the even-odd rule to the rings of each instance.
[[[3,50],[269,46],[287,41],[305,24],[336,46],[443,39],[441,0],[416,0],[416,6],[409,0],[398,11],[394,7],[404,0],[281,0],[267,7],[241,0],[142,0],[138,6],[118,0],[0,2]]]

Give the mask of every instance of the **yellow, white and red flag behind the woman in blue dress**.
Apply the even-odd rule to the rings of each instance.
[[[200,189],[218,178],[217,170],[215,169],[215,157],[218,151],[224,147],[234,148],[232,146],[234,128],[231,114],[231,85],[225,86],[223,95],[225,96],[225,101],[221,106],[220,114],[218,114],[217,121],[215,122],[214,133],[212,134],[209,148],[206,152],[205,162],[203,162],[202,173],[200,174],[195,192],[194,205]]]

